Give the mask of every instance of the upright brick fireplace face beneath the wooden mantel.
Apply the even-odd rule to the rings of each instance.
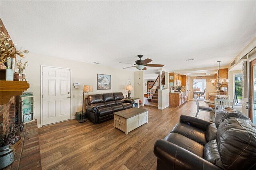
[[[10,125],[15,124],[15,105],[16,97],[10,98],[10,101],[4,105],[0,105],[0,131],[5,134]]]

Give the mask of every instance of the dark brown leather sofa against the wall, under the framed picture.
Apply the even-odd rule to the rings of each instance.
[[[86,117],[94,124],[114,118],[113,113],[133,107],[134,100],[124,99],[122,92],[88,95]]]

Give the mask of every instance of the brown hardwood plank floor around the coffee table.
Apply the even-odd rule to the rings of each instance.
[[[189,101],[164,110],[141,108],[148,109],[148,124],[128,135],[114,128],[113,120],[97,125],[71,120],[38,128],[42,169],[155,170],[154,143],[170,133],[181,114],[194,116],[196,103]],[[198,115],[210,120],[208,112]]]

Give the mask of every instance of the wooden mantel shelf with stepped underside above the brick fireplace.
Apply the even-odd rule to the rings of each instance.
[[[29,88],[27,81],[4,81],[0,80],[0,105],[9,102],[12,96],[22,95]]]

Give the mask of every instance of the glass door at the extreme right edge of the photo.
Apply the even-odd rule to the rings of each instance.
[[[250,119],[256,123],[256,59],[250,63]]]

